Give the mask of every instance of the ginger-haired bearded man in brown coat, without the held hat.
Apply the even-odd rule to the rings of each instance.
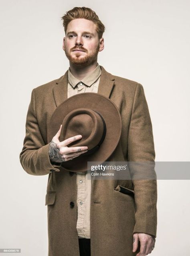
[[[122,120],[119,144],[107,161],[153,161],[152,124],[141,84],[113,76],[97,63],[104,49],[104,25],[90,8],[75,7],[63,17],[63,50],[69,69],[61,78],[32,90],[26,117],[26,136],[20,153],[24,170],[49,174],[49,256],[144,256],[156,237],[156,180],[91,180],[87,173],[61,169],[88,151],[68,147],[81,134],[60,141],[61,128],[47,143],[47,124],[53,111],[78,93],[100,93],[118,107]],[[105,106],[106,107],[106,106]],[[134,197],[115,186],[134,191]]]

